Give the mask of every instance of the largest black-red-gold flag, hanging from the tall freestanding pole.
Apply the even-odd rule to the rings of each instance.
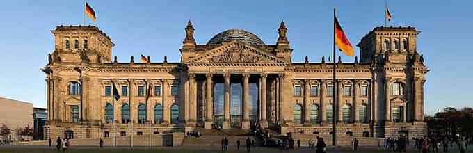
[[[353,51],[353,47],[350,44],[348,38],[342,29],[342,26],[338,23],[337,16],[334,15],[335,18],[335,45],[338,46],[340,51],[342,51],[347,56],[354,56],[355,51]]]

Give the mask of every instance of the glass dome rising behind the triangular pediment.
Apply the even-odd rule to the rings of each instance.
[[[240,42],[248,43],[250,45],[264,45],[263,40],[259,39],[257,35],[243,29],[228,29],[218,33],[207,42],[207,45],[217,45],[222,42],[231,42],[233,40],[239,40]]]

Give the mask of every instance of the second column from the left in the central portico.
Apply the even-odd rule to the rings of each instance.
[[[212,115],[214,114],[214,109],[212,108],[212,74],[205,74],[205,129],[212,129]]]

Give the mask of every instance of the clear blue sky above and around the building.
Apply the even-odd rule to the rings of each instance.
[[[246,29],[266,44],[278,38],[284,19],[294,49],[293,60],[320,61],[332,50],[332,9],[352,44],[384,24],[383,0],[371,1],[88,1],[99,26],[116,46],[119,61],[145,54],[152,61],[179,61],[184,27],[191,19],[195,39],[206,43],[230,28]],[[473,1],[389,2],[393,26],[415,26],[418,51],[431,69],[425,86],[425,110],[444,106],[473,106],[472,29]],[[50,30],[83,24],[83,1],[2,1],[0,9],[0,96],[46,106],[45,74],[40,67],[54,50]],[[358,54],[358,48],[357,48]],[[344,61],[353,58],[344,56]]]

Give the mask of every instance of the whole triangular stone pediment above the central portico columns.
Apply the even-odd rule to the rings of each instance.
[[[186,63],[187,65],[276,65],[284,66],[285,61],[280,58],[259,51],[250,45],[233,41],[216,47],[205,54],[195,56]]]

